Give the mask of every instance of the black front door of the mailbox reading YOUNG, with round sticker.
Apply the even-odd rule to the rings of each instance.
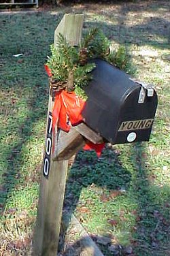
[[[139,86],[124,100],[120,110],[120,120],[116,134],[116,144],[127,142],[141,142],[150,139],[152,125],[157,107],[157,95],[147,96],[143,103],[138,103]]]

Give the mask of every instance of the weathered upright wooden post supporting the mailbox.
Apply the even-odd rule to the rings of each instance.
[[[61,33],[69,44],[78,45],[82,35],[82,24],[82,14],[65,14],[56,28],[54,44],[57,43],[58,33]],[[33,237],[33,255],[35,256],[56,256],[67,178],[68,160],[63,160],[64,157],[62,160],[52,158],[51,151],[54,148],[52,145],[52,107],[52,97],[49,95],[46,146],[42,165],[37,223]],[[77,135],[80,137],[78,132]],[[65,136],[63,136],[64,141]],[[80,144],[82,142],[83,139],[80,138]],[[57,144],[54,151],[57,151]],[[75,152],[71,153],[69,150],[69,153],[69,157],[71,157]]]

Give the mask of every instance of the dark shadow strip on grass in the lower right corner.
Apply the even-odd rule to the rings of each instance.
[[[137,231],[133,235],[135,252],[143,256],[168,256],[170,188],[154,182],[156,175],[149,166],[146,145],[135,144],[131,149],[134,159],[133,193],[139,211]]]

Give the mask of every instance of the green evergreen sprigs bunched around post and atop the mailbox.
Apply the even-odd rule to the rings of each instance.
[[[110,52],[109,45],[109,39],[98,28],[88,31],[78,47],[70,46],[59,34],[56,46],[50,46],[52,54],[46,63],[52,70],[52,78],[56,82],[67,83],[71,72],[75,93],[84,97],[84,86],[92,79],[90,73],[95,68],[95,63],[88,63],[88,60],[101,58],[124,71],[129,68],[126,48],[120,46]]]

